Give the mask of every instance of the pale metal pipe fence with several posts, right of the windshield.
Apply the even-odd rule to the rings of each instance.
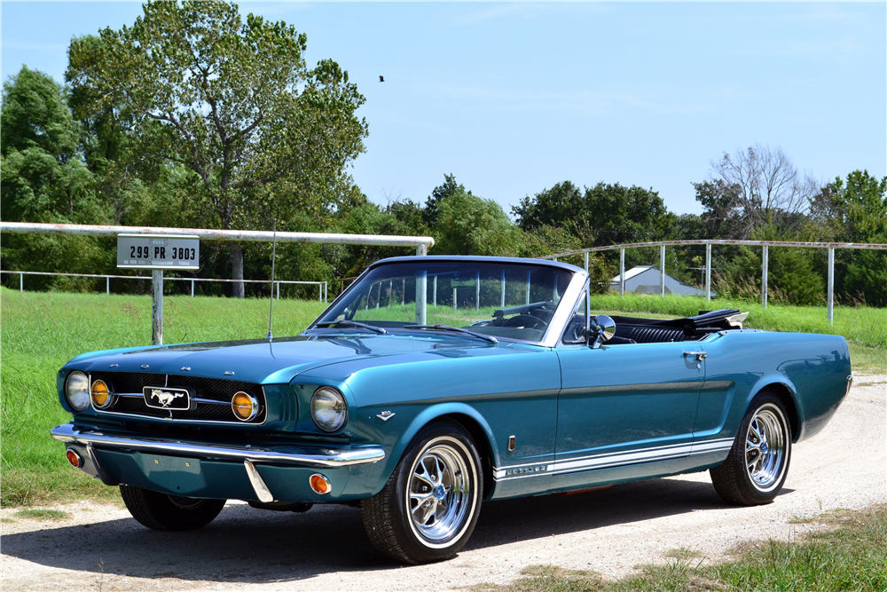
[[[654,242],[627,242],[606,247],[589,247],[537,257],[539,259],[553,259],[582,255],[585,271],[588,271],[588,254],[596,251],[609,251],[619,249],[619,295],[625,294],[625,249],[643,249],[659,247],[660,260],[660,295],[665,296],[665,247],[666,246],[690,246],[705,245],[705,299],[711,300],[711,247],[713,245],[731,245],[761,247],[761,306],[767,307],[767,280],[769,271],[770,247],[797,247],[801,249],[827,249],[828,250],[828,287],[826,294],[828,309],[828,324],[835,320],[835,249],[872,249],[887,250],[887,244],[865,242],[800,242],[800,241],[733,241],[730,239],[703,239],[700,241],[654,241]]]

